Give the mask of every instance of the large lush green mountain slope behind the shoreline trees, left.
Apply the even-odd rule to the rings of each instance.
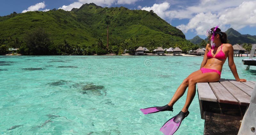
[[[129,10],[125,7],[103,8],[91,3],[71,11],[54,9],[0,17],[0,45],[10,39],[23,41],[24,35],[36,28],[44,29],[54,44],[63,44],[67,40],[69,44],[86,47],[101,38],[106,45],[107,19],[110,20],[109,45],[119,45],[130,37],[138,38],[139,46],[189,44],[181,30],[171,26],[153,11]],[[149,44],[152,40],[154,44]]]

